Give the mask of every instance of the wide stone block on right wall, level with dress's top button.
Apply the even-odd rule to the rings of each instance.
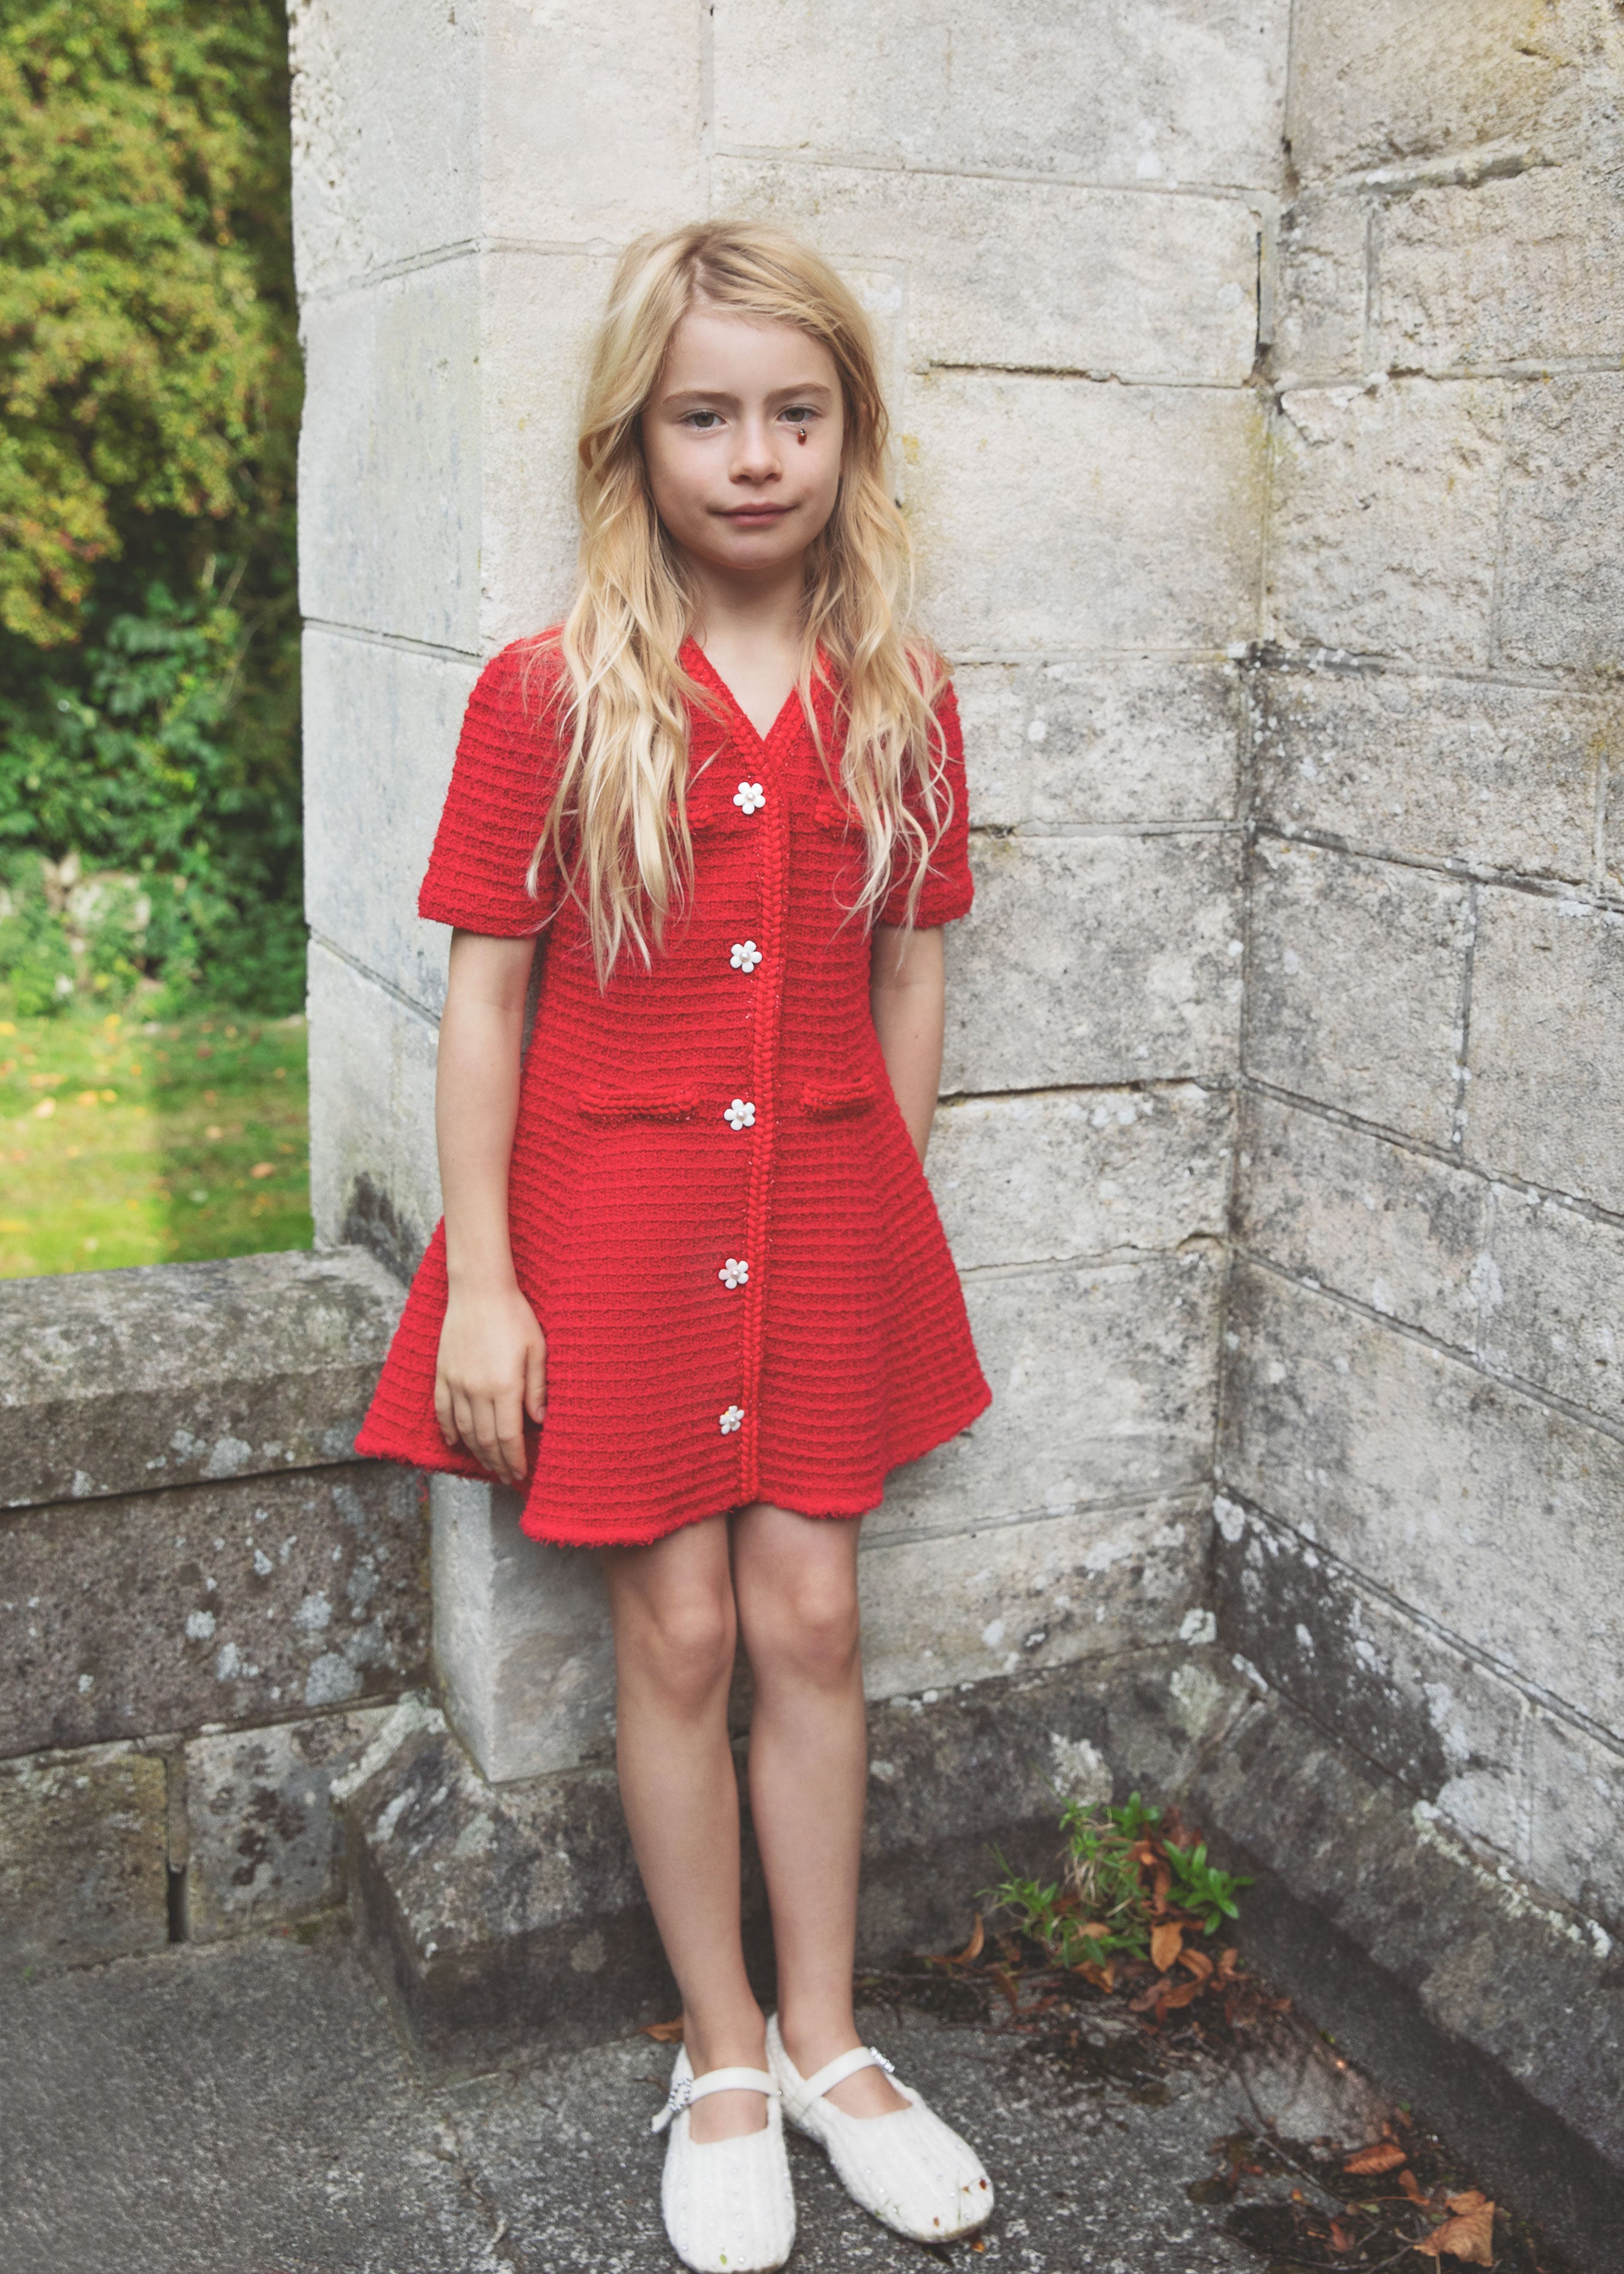
[[[1394,671],[1262,671],[1256,810],[1410,860],[1585,880],[1619,703]]]

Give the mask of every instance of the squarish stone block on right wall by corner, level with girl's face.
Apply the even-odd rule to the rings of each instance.
[[[1503,387],[1299,387],[1274,439],[1276,637],[1306,648],[1485,664],[1499,543]]]

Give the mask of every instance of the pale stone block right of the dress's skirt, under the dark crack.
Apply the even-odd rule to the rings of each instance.
[[[955,1098],[937,1110],[930,1189],[960,1271],[1221,1239],[1233,1101],[1165,1089]]]

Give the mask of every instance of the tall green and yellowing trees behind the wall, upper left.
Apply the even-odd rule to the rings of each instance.
[[[0,998],[161,978],[287,1012],[280,0],[0,0]]]

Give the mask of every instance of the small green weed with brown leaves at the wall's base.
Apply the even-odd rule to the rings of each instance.
[[[1124,1808],[1069,1801],[1060,1831],[1062,1878],[1026,1878],[999,1856],[1003,1878],[987,1897],[1062,1967],[1144,1960],[1165,1919],[1210,1935],[1237,1917],[1235,1899],[1251,1885],[1217,1872],[1205,1842],[1183,1833],[1171,1810],[1146,1808],[1137,1792]]]

